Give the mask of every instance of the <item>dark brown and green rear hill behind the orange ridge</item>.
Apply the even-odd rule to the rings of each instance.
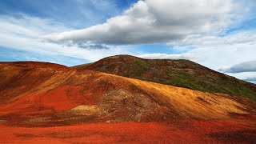
[[[130,55],[118,55],[87,65],[74,66],[74,68],[101,71],[210,93],[243,96],[256,101],[255,84],[218,73],[189,60],[142,59]]]

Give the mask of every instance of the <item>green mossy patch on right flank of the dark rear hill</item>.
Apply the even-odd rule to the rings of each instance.
[[[178,71],[168,71],[170,76],[169,85],[190,88],[192,90],[200,90],[204,92],[217,92],[236,96],[243,96],[256,101],[256,93],[246,86],[241,86],[232,82],[225,82],[222,79],[201,78],[195,75],[182,73]]]

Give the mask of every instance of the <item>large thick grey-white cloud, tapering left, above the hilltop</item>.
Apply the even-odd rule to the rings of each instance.
[[[237,18],[232,0],[145,0],[105,23],[49,34],[48,42],[106,45],[174,42],[187,35],[221,33]]]

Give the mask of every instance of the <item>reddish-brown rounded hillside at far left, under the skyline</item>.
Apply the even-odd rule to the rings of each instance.
[[[0,104],[14,101],[54,74],[68,69],[49,62],[0,62]]]

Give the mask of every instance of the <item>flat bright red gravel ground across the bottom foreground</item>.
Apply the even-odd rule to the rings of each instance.
[[[120,122],[76,126],[18,127],[0,125],[1,142],[245,142],[256,141],[256,124],[226,121]]]

